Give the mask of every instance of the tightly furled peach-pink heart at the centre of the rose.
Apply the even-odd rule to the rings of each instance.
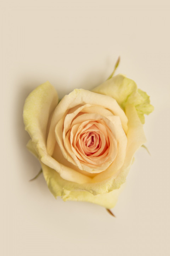
[[[114,160],[117,141],[103,120],[85,121],[73,125],[67,132],[66,149],[75,162],[79,160],[101,171],[102,164],[106,166]]]

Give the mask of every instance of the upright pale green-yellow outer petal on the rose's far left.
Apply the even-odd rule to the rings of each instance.
[[[39,157],[46,152],[48,121],[57,104],[58,95],[50,82],[39,85],[26,98],[23,109],[25,129]]]

